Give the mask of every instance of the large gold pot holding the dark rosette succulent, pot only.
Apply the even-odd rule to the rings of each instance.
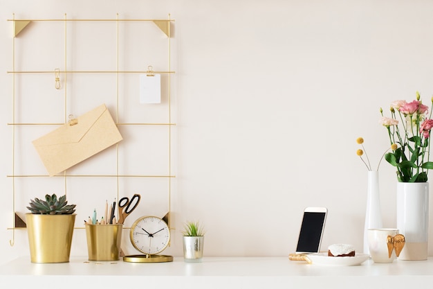
[[[26,213],[32,263],[69,262],[75,216]]]

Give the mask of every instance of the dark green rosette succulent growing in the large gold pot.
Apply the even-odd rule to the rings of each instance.
[[[41,215],[71,215],[75,212],[76,204],[68,204],[66,195],[57,199],[57,195],[45,195],[45,200],[35,198],[30,200],[30,207],[27,207],[32,213]]]

